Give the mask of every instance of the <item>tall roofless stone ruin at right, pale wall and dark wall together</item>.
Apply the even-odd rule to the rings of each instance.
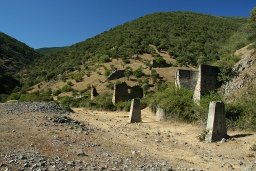
[[[178,70],[175,74],[177,87],[194,91],[194,101],[221,87],[218,81],[219,67],[200,65],[199,71]]]

